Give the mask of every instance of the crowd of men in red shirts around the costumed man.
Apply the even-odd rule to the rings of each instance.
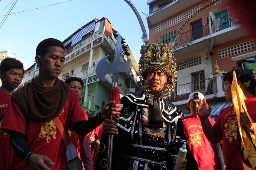
[[[221,110],[215,122],[209,118],[211,106],[204,95],[192,92],[186,104],[191,114],[184,117],[166,99],[176,85],[177,65],[171,48],[147,41],[140,53],[143,89],[123,96],[120,104],[106,103],[89,120],[78,101],[82,79],[58,78],[65,61],[61,41],[49,38],[38,44],[35,61],[39,74],[15,92],[24,76],[23,64],[4,59],[0,65],[0,170],[104,170],[108,166],[109,135],[114,135],[112,170],[173,170],[184,143],[187,153],[178,165],[181,170],[252,167],[241,156],[233,105]],[[233,101],[233,71],[253,123],[242,111],[239,120],[241,126],[253,132],[255,77],[243,68],[225,74],[228,102]],[[164,89],[169,92],[167,96]],[[109,107],[116,117],[113,120],[106,119]],[[70,144],[75,153],[70,151]],[[70,158],[70,153],[75,156]]]

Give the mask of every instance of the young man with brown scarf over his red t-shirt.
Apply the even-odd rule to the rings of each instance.
[[[106,119],[108,107],[90,120],[85,120],[74,90],[59,80],[64,66],[64,46],[53,38],[45,39],[37,46],[35,61],[39,67],[38,78],[33,78],[22,88],[12,93],[11,102],[2,121],[2,131],[11,134],[11,146],[15,152],[9,169],[68,169],[66,147],[54,118],[59,118],[66,133],[75,130],[86,135]],[[117,119],[108,127],[116,132],[116,124],[122,104],[111,108]]]

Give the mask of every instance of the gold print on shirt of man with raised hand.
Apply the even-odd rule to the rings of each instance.
[[[237,119],[232,120],[232,117],[229,117],[229,119],[227,120],[224,126],[226,128],[224,129],[225,138],[229,139],[230,143],[232,143],[233,138],[237,139],[237,132],[236,132],[236,129],[238,127]]]

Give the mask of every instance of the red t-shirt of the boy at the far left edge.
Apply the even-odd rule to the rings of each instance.
[[[5,114],[6,108],[11,100],[12,95],[8,95],[0,90],[0,116]],[[2,126],[2,121],[0,121],[0,128]],[[6,132],[1,131],[0,129],[0,170],[8,170],[9,166],[12,163],[12,158],[14,155],[14,151],[11,146],[11,135]],[[4,163],[3,163],[4,162]]]

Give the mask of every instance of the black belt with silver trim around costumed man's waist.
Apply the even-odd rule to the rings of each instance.
[[[123,157],[156,164],[165,164],[166,155],[168,154],[166,151],[165,148],[161,147],[129,144],[125,146]]]

